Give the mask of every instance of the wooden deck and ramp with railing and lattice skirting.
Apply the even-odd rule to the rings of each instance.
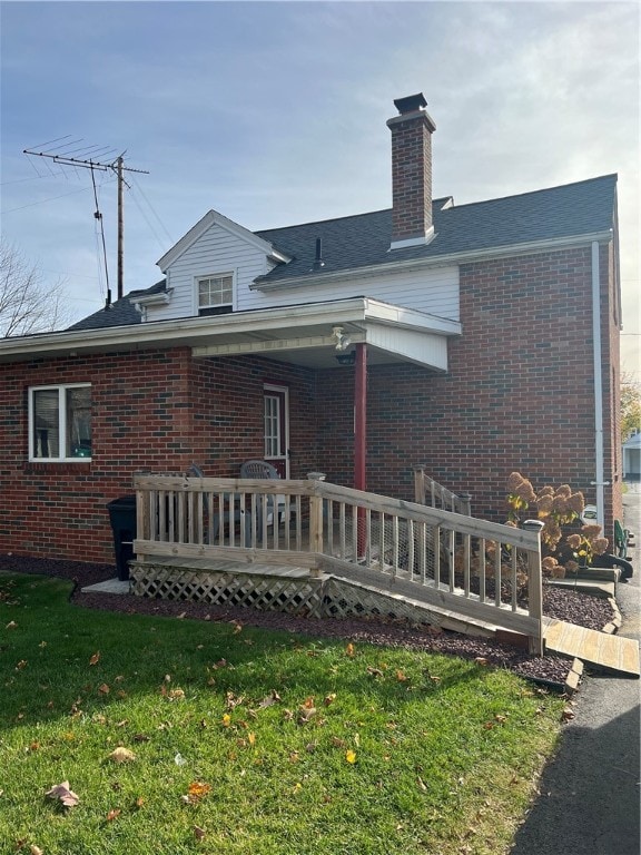
[[[138,596],[500,627],[543,653],[538,532],[310,480],[137,475],[135,487]]]

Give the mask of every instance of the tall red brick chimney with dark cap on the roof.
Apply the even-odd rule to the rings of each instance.
[[[432,225],[432,134],[436,130],[422,92],[397,98],[392,131],[391,249],[428,244]]]

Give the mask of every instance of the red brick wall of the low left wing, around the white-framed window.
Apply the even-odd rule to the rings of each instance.
[[[187,348],[118,353],[0,368],[0,552],[112,561],[107,503],[135,472],[237,475],[263,456],[263,383],[287,385],[292,474],[313,469],[314,376],[260,360],[193,361]],[[91,383],[90,462],[28,461],[28,389]]]

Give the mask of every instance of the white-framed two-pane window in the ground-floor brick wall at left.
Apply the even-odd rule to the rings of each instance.
[[[29,460],[91,458],[91,386],[29,390]]]

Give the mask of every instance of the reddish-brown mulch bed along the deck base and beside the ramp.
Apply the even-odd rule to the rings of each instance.
[[[118,611],[127,615],[190,618],[193,620],[237,621],[246,626],[278,629],[323,638],[345,638],[375,645],[392,645],[416,650],[482,658],[487,665],[506,668],[522,677],[563,686],[571,662],[563,657],[531,657],[527,651],[484,638],[463,636],[437,629],[417,629],[407,622],[376,619],[297,618],[278,612],[255,611],[233,607],[213,607],[185,600],[155,600],[134,594],[88,592],[81,588],[112,579],[111,564],[88,564],[81,561],[57,561],[22,556],[0,556],[0,571],[36,573],[76,582],[71,600],[89,609]],[[609,601],[576,591],[544,587],[543,611],[548,617],[602,629],[613,618]]]

